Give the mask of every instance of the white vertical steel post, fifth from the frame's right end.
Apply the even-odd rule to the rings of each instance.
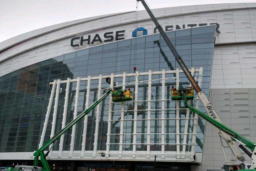
[[[148,71],[148,80],[151,80],[152,70]],[[150,115],[151,115],[151,84],[152,81],[148,81],[148,128],[147,128],[147,158],[150,158]]]

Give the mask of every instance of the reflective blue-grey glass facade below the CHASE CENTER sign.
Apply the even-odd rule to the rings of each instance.
[[[175,45],[178,53],[182,56],[183,61],[188,68],[192,66],[199,68],[203,66],[202,90],[208,95],[210,70],[212,63],[212,53],[214,47],[215,26],[206,26],[200,28],[191,28],[167,32],[168,37]],[[117,42],[112,42],[104,45],[90,47],[88,49],[79,50],[76,52],[61,55],[46,61],[42,61],[9,74],[0,77],[0,152],[31,152],[38,149],[40,135],[44,124],[44,118],[49,102],[51,88],[49,82],[54,79],[66,80],[67,77],[75,79],[78,76],[87,77],[98,76],[99,74],[110,75],[111,73],[122,74],[123,72],[132,73],[133,67],[136,66],[140,72],[161,71],[162,69],[174,70],[179,67],[170,52],[166,43],[160,34],[141,36],[132,39],[125,39]],[[173,77],[173,74],[166,74],[166,77]],[[189,86],[188,80],[184,74],[179,75],[180,86]],[[152,77],[157,79],[159,77]],[[148,80],[147,76],[141,76],[139,80]],[[134,82],[135,79],[129,80]],[[115,82],[122,83],[122,79],[115,79]],[[175,80],[166,81],[166,89],[175,85]],[[85,109],[87,82],[80,83],[78,114]],[[97,99],[98,82],[92,80],[90,84],[90,101],[89,105]],[[169,86],[169,87],[168,87]],[[109,84],[103,82],[102,88],[109,87]],[[55,125],[55,133],[61,129],[63,103],[65,97],[65,87],[61,86],[62,91],[59,94],[58,111]],[[133,88],[133,86],[131,86]],[[152,100],[151,108],[156,109],[151,111],[150,122],[150,151],[161,151],[161,127],[160,118],[161,102],[161,81],[152,84]],[[68,113],[66,123],[73,120],[74,112],[74,96],[76,91],[76,83],[71,83],[68,101]],[[170,93],[166,94],[170,99]],[[109,98],[109,97],[108,97]],[[139,85],[138,100],[146,100],[147,83]],[[107,102],[108,99],[105,101]],[[103,101],[100,105],[99,131],[98,131],[98,146],[97,150],[106,150],[106,139],[108,130],[108,105]],[[123,128],[123,151],[132,151],[133,143],[133,109],[134,103],[127,102]],[[175,108],[176,102],[169,101],[166,104],[166,109]],[[138,109],[145,109],[146,105],[143,102],[138,102]],[[113,110],[120,110],[120,105],[113,104]],[[52,107],[53,110],[53,107]],[[204,111],[202,105],[201,111]],[[52,113],[53,111],[51,111]],[[175,110],[166,110],[165,118],[175,117]],[[95,110],[88,116],[86,144],[85,150],[93,150],[94,132],[95,132]],[[180,118],[184,118],[185,112],[180,112]],[[147,130],[147,112],[138,113],[136,143],[138,143],[137,151],[146,151],[147,148],[145,132]],[[120,133],[120,112],[112,113],[111,123],[111,140],[110,150],[119,150],[119,133]],[[46,136],[44,141],[49,140],[51,134],[50,115]],[[180,121],[180,132],[184,132],[184,124]],[[176,132],[175,122],[166,120],[165,140],[170,145],[165,146],[165,151],[176,151],[176,146],[171,145],[176,142],[176,137],[171,133]],[[205,128],[203,120],[198,121],[197,126],[197,146],[196,152],[202,152],[203,134]],[[75,131],[74,150],[81,150],[83,133],[83,121],[77,123]],[[180,137],[183,143],[182,135]],[[64,137],[63,150],[70,150],[71,130]],[[188,147],[189,148],[189,147]],[[55,146],[53,150],[59,150],[59,146]],[[189,150],[189,149],[188,149]]]

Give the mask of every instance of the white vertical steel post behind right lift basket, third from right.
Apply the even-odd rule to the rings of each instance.
[[[176,68],[176,88],[179,88],[179,68]],[[180,140],[179,140],[179,100],[176,101],[176,158],[180,158],[178,155],[180,154]]]

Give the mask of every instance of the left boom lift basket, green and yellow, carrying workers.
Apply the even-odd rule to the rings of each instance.
[[[115,93],[116,97],[112,95],[112,101],[113,102],[122,102],[122,101],[129,101],[133,100],[133,92],[128,89],[128,90],[113,90],[113,93]]]

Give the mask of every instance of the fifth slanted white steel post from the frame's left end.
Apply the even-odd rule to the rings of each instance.
[[[85,109],[88,108],[89,106],[89,99],[90,99],[90,91],[91,91],[91,79],[92,76],[88,76],[88,81],[87,81],[87,87],[86,87],[86,100],[85,100]],[[87,122],[88,122],[88,114],[84,116],[84,128],[83,128],[83,139],[82,139],[82,151],[81,151],[81,156],[84,157],[84,151],[85,151],[85,141],[86,141],[86,132],[87,132]]]

